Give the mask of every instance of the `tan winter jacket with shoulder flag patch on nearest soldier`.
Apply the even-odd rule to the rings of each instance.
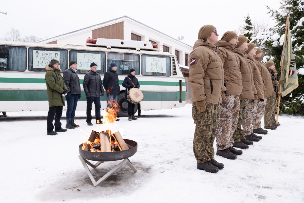
[[[224,86],[224,70],[217,47],[199,39],[189,56],[189,83],[192,88],[192,102],[220,104]]]

